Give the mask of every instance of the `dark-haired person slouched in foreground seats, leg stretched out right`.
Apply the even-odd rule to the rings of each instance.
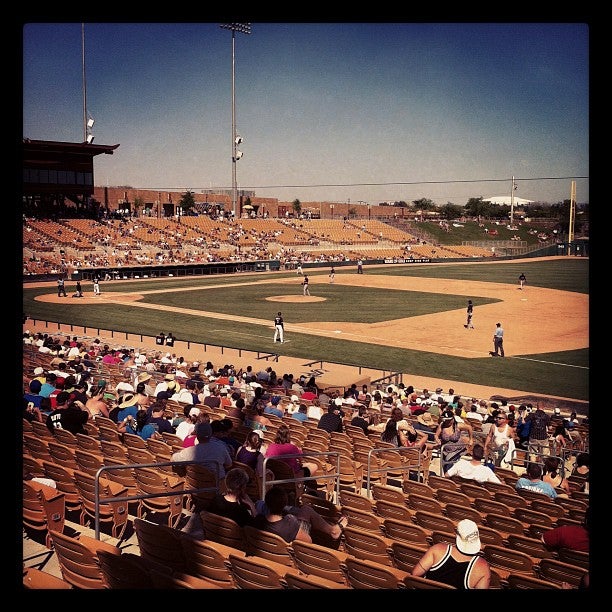
[[[281,536],[285,542],[312,542],[311,530],[323,532],[337,540],[348,522],[346,517],[342,517],[339,523],[331,525],[312,506],[305,504],[297,507],[288,504],[287,491],[281,487],[272,487],[265,495],[264,504],[259,504],[261,511],[252,524],[258,529]]]

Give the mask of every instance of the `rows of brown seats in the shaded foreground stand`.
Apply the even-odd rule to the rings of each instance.
[[[24,349],[25,383],[33,367],[49,366],[50,357],[27,346]],[[122,369],[100,364],[95,375],[119,381]],[[201,408],[211,419],[225,416],[222,408]],[[272,442],[275,431],[285,423],[304,453],[314,453],[308,460],[319,464],[317,484],[324,497],[306,493],[299,482],[285,486],[293,490],[298,503],[312,505],[330,523],[348,516],[349,526],[337,542],[316,533],[309,545],[288,545],[275,541],[273,534],[263,536],[262,542],[261,534],[252,529],[238,528],[229,519],[207,513],[203,517],[206,539],[194,540],[180,527],[194,507],[193,496],[206,503],[218,489],[214,476],[196,466],[189,466],[184,477],[172,466],[141,467],[170,462],[172,452],[182,447],[180,438],[164,433],[163,441],[145,442],[119,434],[116,424],[104,417],[87,424],[88,435],[76,436],[61,430],[52,434],[44,424],[24,421],[24,475],[51,478],[57,484],[57,489],[49,490],[24,480],[24,527],[43,534],[60,562],[61,586],[71,588],[443,588],[409,573],[428,546],[454,541],[456,524],[464,518],[479,525],[484,553],[494,572],[492,588],[580,584],[588,555],[550,552],[540,541],[543,530],[581,523],[589,497],[580,487],[573,488],[570,497],[552,502],[516,491],[521,467],[497,468],[502,485],[478,485],[443,478],[428,471],[419,456],[415,460],[412,453],[390,446],[368,458],[372,448],[385,445],[379,434],[366,436],[351,426],[351,407],[343,408],[342,434],[318,429],[314,419],[300,423],[274,415],[267,415],[273,425],[264,432],[264,439]],[[182,409],[180,403],[169,401],[167,416]],[[234,425],[231,434],[243,442],[249,429],[237,419]],[[108,542],[68,527],[71,522],[77,527],[93,524],[95,475],[102,466],[125,466],[104,472],[99,482],[100,526],[117,541],[110,550]],[[268,467],[276,479],[286,477],[274,471],[274,462]],[[249,494],[260,499],[263,483],[252,470],[249,475]],[[182,493],[202,488],[206,490]],[[163,493],[167,496],[122,501]],[[130,530],[136,532],[139,554],[122,553],[119,548]],[[95,552],[98,548],[107,549],[106,553]],[[24,567],[24,584],[29,588],[48,582],[54,582],[52,576]]]

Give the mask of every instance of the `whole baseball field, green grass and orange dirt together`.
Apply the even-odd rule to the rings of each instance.
[[[295,271],[102,282],[100,296],[58,297],[55,283],[26,284],[30,319],[179,340],[525,394],[589,399],[589,260],[335,264]],[[519,289],[518,276],[527,284]],[[467,300],[474,329],[466,329]],[[273,342],[282,311],[285,343]],[[506,357],[493,358],[496,322]]]

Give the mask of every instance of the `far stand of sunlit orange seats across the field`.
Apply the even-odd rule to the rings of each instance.
[[[24,275],[86,267],[119,267],[198,259],[303,261],[318,258],[491,257],[490,249],[425,244],[414,235],[378,220],[213,220],[207,216],[140,217],[126,220],[26,219]],[[263,246],[265,245],[265,246]]]

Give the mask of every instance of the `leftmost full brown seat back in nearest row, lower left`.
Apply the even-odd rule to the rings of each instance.
[[[88,536],[70,537],[57,531],[52,533],[51,540],[66,582],[77,589],[106,588],[97,553],[102,549],[119,555],[119,548]]]

